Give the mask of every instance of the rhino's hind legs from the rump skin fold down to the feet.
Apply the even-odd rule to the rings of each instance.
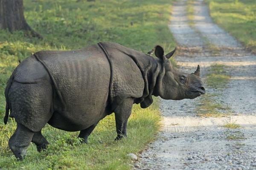
[[[22,160],[32,140],[41,144],[38,146],[39,149],[46,147],[46,142],[38,132],[52,116],[50,82],[47,80],[38,81],[36,84],[13,82],[9,89],[9,103],[12,106],[10,117],[14,117],[17,122],[17,129],[9,139],[9,147],[16,158]]]

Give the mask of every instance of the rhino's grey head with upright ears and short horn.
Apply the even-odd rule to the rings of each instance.
[[[155,56],[158,58],[161,71],[153,95],[163,99],[181,100],[195,99],[205,94],[204,85],[200,78],[200,66],[198,65],[197,70],[191,74],[178,71],[168,60],[174,53],[175,50],[164,55],[161,46],[155,47]]]

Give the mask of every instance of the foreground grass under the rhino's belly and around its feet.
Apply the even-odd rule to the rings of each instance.
[[[47,125],[43,135],[47,138],[49,148],[38,153],[34,144],[28,148],[24,161],[17,161],[7,146],[12,135],[15,122],[9,121],[7,126],[1,125],[0,168],[9,169],[130,169],[130,158],[127,153],[139,153],[145,144],[157,132],[160,120],[156,103],[147,109],[138,105],[128,123],[128,137],[119,142],[116,137],[114,115],[103,119],[89,137],[88,144],[81,144],[77,139],[78,132],[65,132]],[[100,143],[99,141],[102,141]]]

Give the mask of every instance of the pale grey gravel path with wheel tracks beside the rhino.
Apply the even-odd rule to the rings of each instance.
[[[179,69],[193,72],[201,65],[204,79],[213,63],[227,65],[231,76],[218,101],[230,107],[226,117],[198,117],[199,99],[160,100],[162,130],[135,162],[139,170],[255,170],[256,169],[256,56],[224,30],[212,23],[203,0],[193,4],[194,26],[186,18],[186,0],[173,4],[170,31],[179,44],[176,60]],[[212,54],[211,43],[220,49]],[[216,89],[207,89],[216,91]],[[235,122],[242,128],[222,127]],[[240,136],[240,140],[227,140]],[[135,168],[136,167],[136,168]]]

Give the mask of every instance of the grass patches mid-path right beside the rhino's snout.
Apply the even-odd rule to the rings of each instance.
[[[200,97],[201,105],[196,108],[197,116],[206,117],[219,117],[226,116],[224,112],[229,111],[226,105],[218,101],[218,96],[221,95],[221,91],[227,87],[230,76],[225,71],[225,65],[214,64],[211,65],[207,77],[205,79],[206,88],[216,89],[215,93],[208,92],[204,96]]]

